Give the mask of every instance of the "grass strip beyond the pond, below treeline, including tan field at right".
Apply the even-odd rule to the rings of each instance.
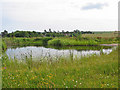
[[[81,38],[77,37],[33,37],[33,38],[3,38],[9,46],[86,46],[99,44],[118,43],[120,38],[114,33],[103,34],[83,34]]]

